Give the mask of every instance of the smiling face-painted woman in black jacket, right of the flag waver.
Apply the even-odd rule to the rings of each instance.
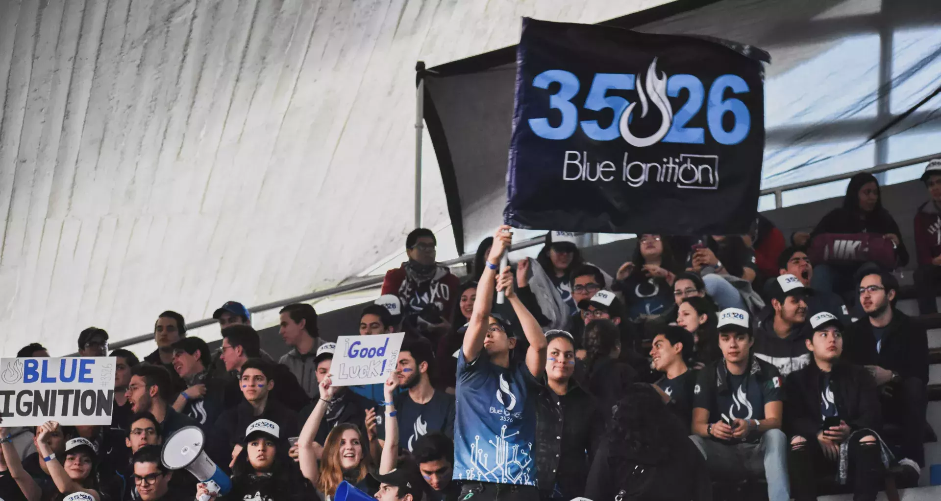
[[[572,335],[552,330],[546,339],[546,373],[537,396],[535,425],[539,497],[567,500],[584,495],[591,458],[604,430],[599,426],[604,415],[598,400],[572,378]]]

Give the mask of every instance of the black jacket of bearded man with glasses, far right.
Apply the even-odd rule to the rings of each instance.
[[[853,322],[843,336],[843,358],[857,366],[879,366],[903,378],[928,384],[928,334],[901,311],[892,308],[892,321],[885,326],[882,349],[876,349],[869,318]]]

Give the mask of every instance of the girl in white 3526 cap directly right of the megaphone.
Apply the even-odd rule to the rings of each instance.
[[[258,419],[248,425],[242,452],[232,467],[232,488],[219,501],[264,499],[300,501],[305,499],[294,463],[287,454],[288,444],[277,424]],[[197,485],[196,497],[209,494],[206,484]],[[212,499],[215,495],[210,494]]]

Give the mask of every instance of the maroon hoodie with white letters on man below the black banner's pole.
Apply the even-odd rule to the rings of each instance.
[[[419,283],[408,276],[406,263],[402,263],[401,268],[386,272],[382,281],[382,293],[395,294],[402,301],[403,315],[418,313],[434,304],[441,311],[441,318],[447,321],[451,320],[459,288],[460,280],[444,266],[438,267],[431,280]]]

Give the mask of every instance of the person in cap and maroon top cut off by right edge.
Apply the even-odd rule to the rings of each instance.
[[[941,280],[941,158],[935,158],[925,167],[921,182],[928,188],[927,202],[915,213],[915,253],[918,268],[915,288],[918,291],[918,312],[929,315],[938,312],[937,286]]]

